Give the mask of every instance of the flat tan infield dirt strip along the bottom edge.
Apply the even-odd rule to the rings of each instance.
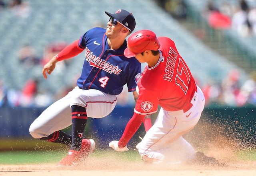
[[[256,162],[228,162],[226,166],[159,165],[111,159],[89,159],[81,165],[1,165],[0,176],[253,176]]]

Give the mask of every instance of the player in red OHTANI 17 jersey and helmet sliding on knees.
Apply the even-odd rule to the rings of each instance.
[[[133,33],[127,41],[124,55],[148,65],[138,81],[138,100],[134,115],[119,141],[109,146],[127,151],[128,141],[140,127],[145,115],[160,112],[138,151],[145,162],[182,163],[195,159],[196,152],[182,137],[200,119],[204,109],[204,94],[178,53],[174,41],[156,37],[149,30]]]

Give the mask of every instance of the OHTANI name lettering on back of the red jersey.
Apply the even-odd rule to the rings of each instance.
[[[170,47],[168,57],[167,57],[166,67],[165,67],[165,72],[166,72],[166,74],[164,74],[165,80],[172,81],[174,66],[175,66],[177,57],[178,57],[178,53],[172,47]]]

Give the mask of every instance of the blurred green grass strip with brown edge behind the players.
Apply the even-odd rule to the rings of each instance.
[[[29,147],[28,147],[29,146]],[[57,163],[67,155],[68,147],[47,143],[40,140],[9,140],[0,143],[0,164],[38,164]],[[3,148],[5,148],[3,150]],[[256,149],[234,151],[237,160],[256,161]],[[97,149],[90,155],[92,158],[118,158],[140,162],[138,151],[130,149],[116,152],[112,149]]]

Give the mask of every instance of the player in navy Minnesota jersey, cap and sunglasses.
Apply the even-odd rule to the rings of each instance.
[[[68,45],[44,65],[42,74],[47,79],[56,64],[85,51],[82,74],[77,86],[64,98],[58,100],[30,125],[30,134],[36,139],[70,146],[68,156],[58,166],[72,165],[87,158],[95,149],[92,139],[83,139],[87,117],[102,118],[116,106],[118,95],[127,84],[135,91],[141,76],[141,65],[135,58],[126,58],[126,37],[135,28],[134,16],[126,10],[114,14],[105,12],[110,20],[107,29],[95,27],[84,33],[80,39]],[[62,129],[72,125],[72,135]],[[145,120],[145,129],[151,127],[150,118]]]

